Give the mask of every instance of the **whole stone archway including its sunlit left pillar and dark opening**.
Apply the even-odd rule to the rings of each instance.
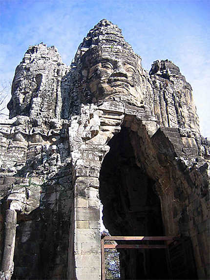
[[[205,180],[202,179],[199,170],[193,166],[189,168],[182,159],[185,139],[176,128],[158,128],[154,120],[142,120],[142,117],[130,114],[129,111],[125,112],[120,104],[114,104],[116,106],[114,109],[111,105],[113,106],[108,103],[101,107],[82,108],[82,117],[75,118],[69,129],[69,142],[72,146],[74,213],[69,237],[71,246],[68,254],[68,278],[71,280],[100,278],[99,192],[103,204],[108,203],[107,207],[105,206],[105,214],[108,213],[105,225],[112,235],[189,237],[192,239],[198,269],[203,256],[196,249],[199,236],[194,232],[193,217],[189,210],[196,211],[194,201],[199,197],[196,189],[198,184],[205,183]],[[117,168],[118,164],[120,168]],[[129,188],[131,179],[133,182]],[[107,183],[107,180],[111,183]],[[123,182],[122,189],[119,188],[120,182]],[[141,191],[137,185],[143,186]],[[118,204],[110,207],[110,201],[106,196],[113,201],[113,205]],[[189,201],[189,197],[192,201]],[[126,206],[123,208],[122,205]],[[109,207],[113,215],[110,215]],[[116,209],[121,208],[123,211],[120,215],[114,213]],[[111,219],[115,217],[117,221],[112,221]],[[142,226],[143,223],[145,226]],[[149,265],[152,261],[149,259],[155,258],[166,263],[165,254],[160,258],[160,251],[157,253],[151,251],[146,254],[147,256],[132,257],[130,254],[138,255],[134,251],[128,256],[126,253],[124,256],[122,254],[121,263],[135,259],[138,264],[138,259],[144,259],[144,267],[135,272],[140,271],[141,274],[141,271],[144,271],[145,274],[140,275],[143,279],[147,278],[147,271],[151,270]],[[133,268],[133,264],[129,263]],[[160,269],[161,265],[158,265],[157,261],[156,263],[157,269],[155,270],[155,265],[152,268],[155,275],[149,277],[156,279],[156,271],[159,271],[161,279],[168,279],[166,269]],[[123,266],[126,277],[129,267],[128,264],[122,265],[122,269]],[[202,273],[201,271],[201,275]],[[139,276],[129,275],[129,279],[133,277]]]

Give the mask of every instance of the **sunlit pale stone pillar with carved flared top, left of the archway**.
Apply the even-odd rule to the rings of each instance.
[[[103,109],[106,113],[101,126],[99,116],[103,114]],[[109,139],[121,129],[116,126],[124,118],[121,110],[120,107],[120,111],[115,113],[109,104],[100,109],[92,105],[82,106],[81,117],[74,117],[71,121],[69,147],[74,173],[74,215],[71,224],[74,231],[69,237],[70,280],[101,279],[99,172],[109,151]]]

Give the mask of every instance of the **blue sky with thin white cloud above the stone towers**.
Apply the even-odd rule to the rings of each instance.
[[[70,64],[89,29],[117,24],[149,70],[180,67],[193,88],[201,132],[210,137],[210,0],[0,0],[0,81],[12,79],[29,45],[55,45]]]

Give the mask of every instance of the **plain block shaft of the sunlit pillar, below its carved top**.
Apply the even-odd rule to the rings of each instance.
[[[75,180],[75,274],[77,280],[101,279],[99,166],[76,168]],[[98,167],[96,166],[98,165]],[[88,166],[88,165],[87,165]]]

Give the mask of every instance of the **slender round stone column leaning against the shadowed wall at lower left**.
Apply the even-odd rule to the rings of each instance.
[[[15,210],[6,210],[5,221],[5,242],[4,252],[1,262],[1,270],[5,279],[10,280],[13,274],[13,257],[15,251],[15,234],[16,234],[17,213]]]

